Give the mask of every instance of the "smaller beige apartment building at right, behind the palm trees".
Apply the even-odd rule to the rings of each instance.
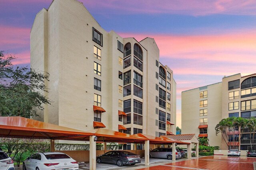
[[[256,116],[256,74],[224,76],[222,82],[182,92],[182,133],[197,132],[198,137],[208,137],[211,146],[228,149],[221,135],[216,136],[214,127],[221,119],[232,116]],[[250,134],[248,129],[244,132],[239,149],[248,150]]]

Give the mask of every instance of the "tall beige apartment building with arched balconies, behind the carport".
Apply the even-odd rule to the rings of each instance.
[[[176,82],[153,38],[106,32],[81,2],[54,0],[36,15],[30,46],[31,67],[50,74],[53,101],[36,119],[84,131],[175,132]]]

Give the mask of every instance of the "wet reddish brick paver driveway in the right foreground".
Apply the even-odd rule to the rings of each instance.
[[[253,162],[256,158],[214,155],[138,170],[253,170]]]

